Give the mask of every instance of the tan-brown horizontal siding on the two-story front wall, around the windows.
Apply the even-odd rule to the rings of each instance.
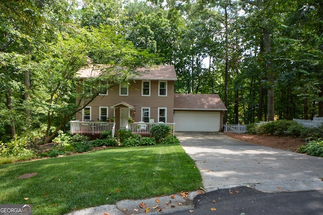
[[[145,81],[145,80],[144,80]],[[163,81],[163,80],[159,80]],[[110,108],[120,102],[132,105],[135,109],[130,111],[130,116],[135,122],[141,121],[141,108],[150,108],[150,118],[158,120],[158,108],[167,108],[167,122],[174,122],[174,81],[167,81],[167,97],[158,96],[158,80],[150,81],[150,96],[141,96],[142,81],[136,80],[129,86],[128,96],[119,95],[119,85],[109,89],[107,96],[97,96],[94,101],[88,105],[91,106],[92,121],[99,119],[99,107],[109,107],[108,117],[116,116],[116,122],[119,122],[120,107]],[[123,107],[121,105],[121,107]],[[134,116],[134,111],[136,115]],[[82,121],[82,112],[77,113],[76,119]]]

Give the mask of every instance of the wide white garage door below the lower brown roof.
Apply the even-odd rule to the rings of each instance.
[[[219,131],[220,112],[175,111],[176,131]]]

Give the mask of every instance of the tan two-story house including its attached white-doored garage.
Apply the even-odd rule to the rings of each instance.
[[[142,71],[144,69],[141,69]],[[87,79],[92,69],[79,71]],[[135,122],[171,123],[176,131],[219,131],[226,109],[217,94],[175,94],[177,80],[173,65],[153,66],[97,96],[82,112],[78,121],[103,121],[113,117],[115,129],[128,128],[128,118]],[[175,123],[175,124],[174,124]]]

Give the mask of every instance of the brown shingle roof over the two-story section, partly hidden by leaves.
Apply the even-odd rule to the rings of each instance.
[[[82,68],[78,71],[80,78],[91,78],[101,75],[101,70],[108,67],[107,65],[97,64]],[[176,81],[176,71],[174,65],[155,65],[149,68],[138,68],[137,76],[131,77],[134,80],[164,80]]]

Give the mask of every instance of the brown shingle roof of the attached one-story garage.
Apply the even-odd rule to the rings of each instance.
[[[218,94],[174,94],[174,110],[227,110]]]

